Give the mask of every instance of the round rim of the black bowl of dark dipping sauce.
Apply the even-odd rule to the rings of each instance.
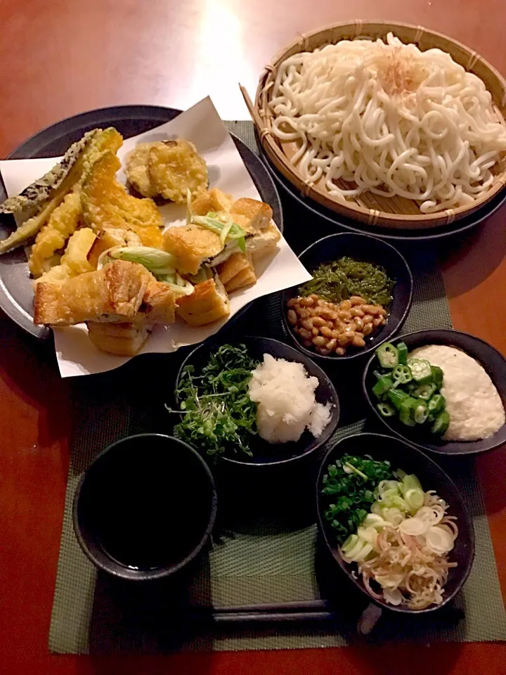
[[[207,524],[207,527],[205,529],[205,532],[202,534],[202,537],[199,541],[199,543],[193,548],[190,553],[181,560],[179,563],[176,563],[175,565],[171,565],[171,567],[160,567],[155,570],[141,570],[141,574],[128,574],[128,572],[134,572],[134,570],[129,570],[129,567],[124,567],[121,565],[121,563],[117,563],[118,567],[124,567],[125,573],[122,574],[119,571],[112,571],[108,567],[106,567],[101,560],[96,558],[95,555],[89,550],[86,541],[84,541],[84,537],[81,534],[81,528],[79,525],[79,518],[78,518],[78,509],[79,509],[79,497],[82,492],[82,487],[84,485],[84,482],[86,480],[86,476],[89,473],[89,470],[93,465],[96,464],[97,461],[99,461],[103,456],[108,454],[110,451],[115,449],[118,445],[123,444],[124,442],[131,441],[132,439],[138,439],[138,438],[162,438],[165,441],[169,440],[170,442],[177,443],[181,446],[183,446],[186,451],[190,452],[195,458],[197,458],[197,461],[200,463],[202,466],[202,469],[204,470],[204,473],[207,475],[207,478],[209,479],[209,485],[212,489],[212,503],[211,503],[211,510],[209,513],[209,522]],[[74,527],[74,533],[76,536],[77,541],[79,542],[79,546],[81,546],[82,551],[84,555],[86,555],[86,558],[88,558],[93,565],[98,567],[98,569],[103,570],[103,572],[107,572],[107,574],[112,575],[113,577],[117,577],[119,579],[128,579],[128,581],[154,581],[156,579],[164,579],[165,577],[171,576],[171,574],[174,574],[175,572],[179,572],[183,567],[186,567],[188,563],[190,563],[192,560],[194,560],[197,555],[202,551],[204,546],[207,544],[207,540],[209,539],[209,536],[212,532],[212,529],[214,527],[214,523],[216,522],[216,513],[218,509],[218,496],[216,494],[216,485],[214,484],[214,477],[211,473],[211,470],[209,469],[209,466],[207,463],[205,463],[204,459],[198,454],[198,452],[188,443],[185,443],[184,441],[180,441],[177,438],[174,438],[173,436],[168,436],[166,434],[157,434],[157,433],[145,433],[145,434],[132,434],[130,436],[125,436],[124,438],[120,438],[114,443],[109,444],[107,447],[105,447],[97,456],[96,458],[93,459],[91,464],[89,465],[88,468],[86,468],[86,471],[84,471],[82,477],[79,479],[79,483],[77,484],[76,491],[74,493],[74,501],[72,503],[72,525]],[[105,554],[107,555],[107,554]]]

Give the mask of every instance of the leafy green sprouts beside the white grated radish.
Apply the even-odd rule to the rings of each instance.
[[[208,455],[240,451],[249,456],[249,439],[257,433],[257,404],[248,394],[252,371],[259,362],[245,345],[223,345],[200,374],[186,366],[176,394],[183,420],[174,436]]]

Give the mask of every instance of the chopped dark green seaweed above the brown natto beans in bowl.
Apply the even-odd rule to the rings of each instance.
[[[344,256],[321,264],[313,271],[311,281],[299,288],[299,295],[316,293],[336,303],[360,295],[367,302],[381,304],[387,309],[395,283],[382,266]]]

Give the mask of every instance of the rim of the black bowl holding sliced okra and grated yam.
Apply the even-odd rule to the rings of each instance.
[[[495,349],[495,347],[493,347],[490,344],[490,342],[486,342],[486,340],[482,340],[481,338],[477,338],[476,335],[471,335],[470,333],[464,333],[464,331],[462,331],[462,330],[454,330],[453,328],[427,328],[425,330],[413,330],[413,331],[411,331],[411,333],[404,333],[403,335],[397,335],[395,339],[402,341],[405,338],[410,338],[412,335],[420,335],[420,333],[427,333],[428,334],[428,340],[427,340],[427,343],[426,343],[427,345],[430,344],[430,342],[429,342],[430,335],[434,334],[434,333],[447,333],[449,338],[451,338],[452,335],[464,335],[467,340],[475,340],[476,342],[479,342],[481,345],[484,345],[484,347],[486,347],[488,349],[491,349],[493,352],[495,352],[495,354],[497,354],[499,356],[500,359],[502,359],[502,361],[505,361],[505,366],[506,366],[505,357],[502,356],[502,354],[499,352],[499,350]],[[438,343],[436,342],[436,344],[438,344]],[[451,347],[453,345],[451,345],[450,342],[448,342],[447,346]],[[467,354],[465,349],[462,348],[461,351],[465,352]],[[377,419],[379,419],[381,421],[382,425],[384,425],[384,427],[387,428],[387,430],[391,434],[394,434],[396,437],[402,439],[407,444],[409,444],[411,446],[414,446],[417,450],[419,450],[421,452],[424,452],[424,453],[434,452],[436,454],[444,455],[444,456],[447,456],[447,457],[453,457],[453,456],[457,457],[457,456],[462,456],[462,455],[475,455],[475,454],[480,454],[482,452],[490,452],[491,450],[498,449],[498,447],[500,447],[504,444],[504,440],[500,440],[500,441],[496,440],[495,442],[491,442],[491,444],[489,444],[489,447],[486,447],[484,449],[478,449],[478,450],[472,449],[472,445],[474,443],[481,443],[481,442],[488,441],[488,440],[491,441],[491,439],[493,439],[493,437],[495,435],[497,435],[498,432],[500,432],[501,429],[506,427],[506,423],[503,424],[502,427],[500,427],[492,436],[488,437],[488,439],[481,439],[481,440],[477,440],[477,441],[448,441],[448,443],[467,444],[467,447],[469,448],[469,449],[463,449],[463,450],[457,450],[457,451],[451,451],[451,452],[446,451],[444,449],[439,449],[438,446],[431,446],[429,448],[429,447],[427,447],[427,445],[422,444],[420,442],[417,442],[415,439],[412,439],[410,437],[407,437],[407,436],[403,435],[403,433],[398,431],[396,428],[391,427],[387,423],[387,421],[377,411],[376,406],[373,404],[373,401],[372,401],[372,399],[369,395],[368,387],[366,386],[366,380],[368,378],[368,374],[369,374],[370,368],[372,366],[372,363],[375,359],[375,356],[376,356],[376,354],[372,354],[372,356],[370,356],[370,359],[368,359],[367,364],[365,364],[365,368],[364,368],[364,371],[363,371],[363,374],[362,374],[362,391],[363,391],[363,394],[365,396],[365,400],[367,401],[370,409],[372,409],[372,411],[375,413],[375,416],[377,417]],[[467,354],[467,356],[471,356],[471,355]],[[474,356],[471,356],[471,358],[474,359]],[[479,359],[474,359],[474,361],[477,361],[479,363],[479,365],[482,368],[484,368],[484,370],[487,372],[487,368],[485,368],[484,364]],[[487,372],[487,374],[488,374],[488,372]],[[490,375],[489,375],[489,377],[490,377]],[[492,383],[493,383],[493,381],[492,381]],[[495,384],[494,384],[494,387],[495,387]],[[497,389],[497,387],[495,387],[495,388]],[[503,402],[503,406],[504,406],[504,402]],[[506,412],[506,408],[505,408],[505,412]]]

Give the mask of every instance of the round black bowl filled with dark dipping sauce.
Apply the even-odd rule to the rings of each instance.
[[[74,531],[89,560],[122,579],[162,579],[204,548],[216,490],[193,448],[161,434],[108,446],[79,482]]]

